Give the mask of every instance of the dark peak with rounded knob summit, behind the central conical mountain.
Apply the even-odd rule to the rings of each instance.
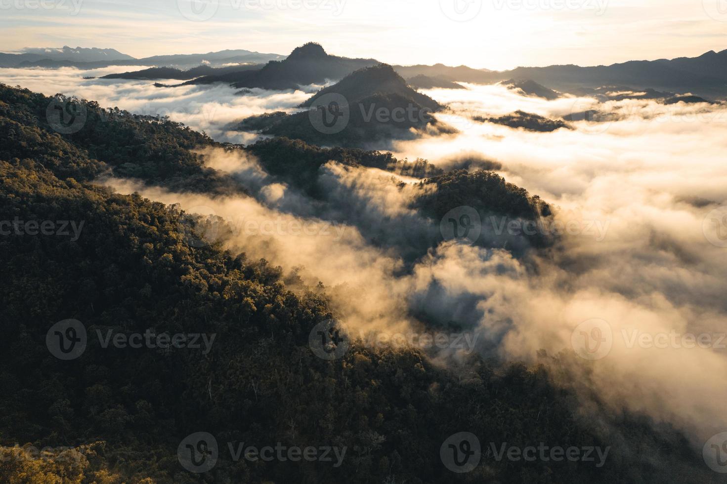
[[[373,59],[350,59],[329,55],[319,44],[309,42],[297,47],[285,60],[268,62],[254,72],[225,76],[206,76],[187,84],[225,82],[236,88],[297,89],[309,84],[336,81],[354,70],[376,65]]]

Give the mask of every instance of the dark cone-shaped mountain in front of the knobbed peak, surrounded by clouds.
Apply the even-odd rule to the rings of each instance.
[[[364,147],[417,136],[418,130],[451,132],[432,116],[443,106],[411,89],[390,65],[363,68],[321,89],[294,114],[252,116],[234,129],[304,140],[317,145]]]

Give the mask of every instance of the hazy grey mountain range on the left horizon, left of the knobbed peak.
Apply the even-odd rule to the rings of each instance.
[[[281,60],[285,56],[264,54],[244,49],[222,50],[206,54],[155,55],[137,59],[114,49],[24,49],[18,54],[0,53],[0,67],[75,67],[80,69],[105,68],[109,65],[149,65],[158,67],[193,68],[205,62],[211,65],[261,64]]]

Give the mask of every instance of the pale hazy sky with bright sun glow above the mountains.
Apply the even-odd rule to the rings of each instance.
[[[134,57],[306,41],[383,62],[609,64],[727,49],[727,0],[0,0],[0,49]]]

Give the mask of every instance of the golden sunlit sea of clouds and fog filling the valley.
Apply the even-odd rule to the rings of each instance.
[[[1,69],[0,81],[168,115],[238,143],[254,135],[231,132],[230,123],[292,112],[317,87],[238,96],[222,85],[82,79],[132,69]],[[727,340],[720,339],[727,334],[727,209],[721,208],[727,107],[548,101],[499,85],[467,87],[426,91],[449,105],[436,116],[457,134],[394,142],[395,156],[443,168],[473,156],[494,162],[508,182],[554,206],[563,227],[574,227],[555,248],[523,258],[506,248],[443,241],[407,264],[407,245],[439,230],[439,220],[411,208],[419,180],[334,162],[319,177],[325,203],[271,177],[254,158],[217,148],[202,152],[207,164],[235,174],[253,196],[211,198],[134,180],[104,182],[224,217],[238,227],[226,246],[287,270],[302,267],[305,283],[325,284],[354,334],[425,331],[454,321],[477,334],[476,350],[484,355],[536,361],[545,350],[542,361],[543,354],[576,352],[572,371],[614,412],[627,408],[669,422],[701,448],[727,429]],[[574,129],[550,133],[472,121],[515,110],[558,118],[588,108],[611,121],[577,121]],[[690,344],[692,336],[701,343]],[[456,360],[461,351],[443,350],[440,358]]]

